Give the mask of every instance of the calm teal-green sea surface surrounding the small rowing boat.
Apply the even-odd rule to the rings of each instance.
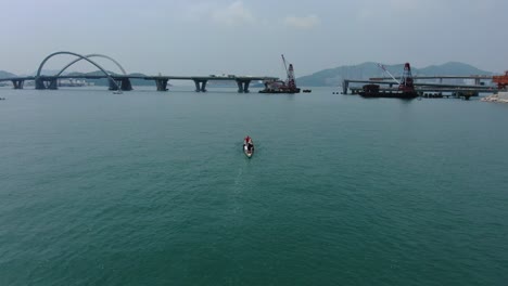
[[[0,89],[0,285],[508,285],[508,105],[104,89]]]

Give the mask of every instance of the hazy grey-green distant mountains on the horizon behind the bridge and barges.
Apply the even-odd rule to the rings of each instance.
[[[404,70],[404,64],[385,65],[385,68],[395,77],[399,77]],[[411,66],[414,76],[470,76],[470,75],[493,75],[492,72],[481,70],[474,66],[449,62],[442,65],[432,65],[424,68],[416,68]],[[52,75],[52,73],[43,73]],[[54,73],[53,73],[54,74]],[[92,73],[69,73],[67,75],[102,75],[102,72]],[[144,76],[143,74],[130,74],[131,76]],[[16,75],[0,70],[0,78],[15,77]],[[372,77],[386,77],[377,63],[367,62],[359,65],[339,66],[319,70],[309,76],[296,78],[296,83],[302,87],[336,87],[342,84],[343,79],[369,79]],[[87,79],[96,86],[107,86],[106,79]],[[132,86],[153,86],[152,80],[132,79]]]

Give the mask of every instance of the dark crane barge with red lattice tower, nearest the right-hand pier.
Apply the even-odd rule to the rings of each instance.
[[[381,68],[388,72],[382,65],[381,65]],[[390,76],[392,75],[390,74]],[[409,63],[406,63],[404,65],[404,74],[403,74],[401,81],[396,80],[395,78],[393,79],[398,83],[398,88],[396,90],[380,89],[379,84],[369,83],[369,84],[365,84],[361,88],[361,91],[358,92],[358,94],[364,98],[395,98],[395,99],[406,99],[406,100],[418,98],[418,93],[415,90],[415,84],[414,84],[412,75],[411,75],[411,67]]]

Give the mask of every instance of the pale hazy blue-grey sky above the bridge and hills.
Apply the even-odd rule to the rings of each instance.
[[[508,69],[506,0],[0,0],[0,70],[55,51],[100,53],[127,73],[296,76],[323,68],[460,61]],[[45,68],[73,60],[56,56]],[[117,72],[109,61],[98,58]],[[71,68],[96,68],[79,63]]]

